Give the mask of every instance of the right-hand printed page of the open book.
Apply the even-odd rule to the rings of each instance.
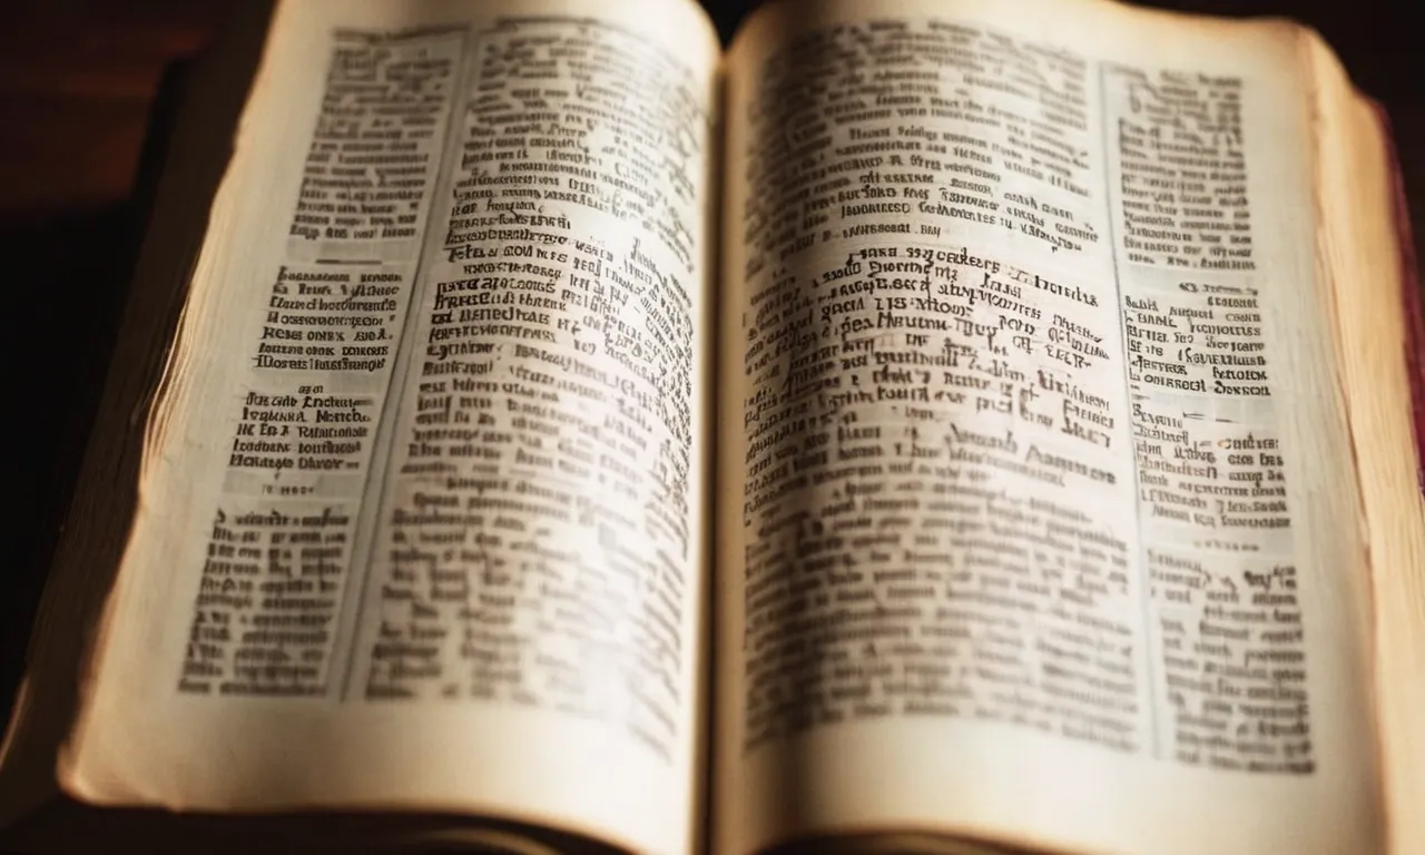
[[[1094,1],[744,30],[720,852],[1379,848],[1302,43]]]

